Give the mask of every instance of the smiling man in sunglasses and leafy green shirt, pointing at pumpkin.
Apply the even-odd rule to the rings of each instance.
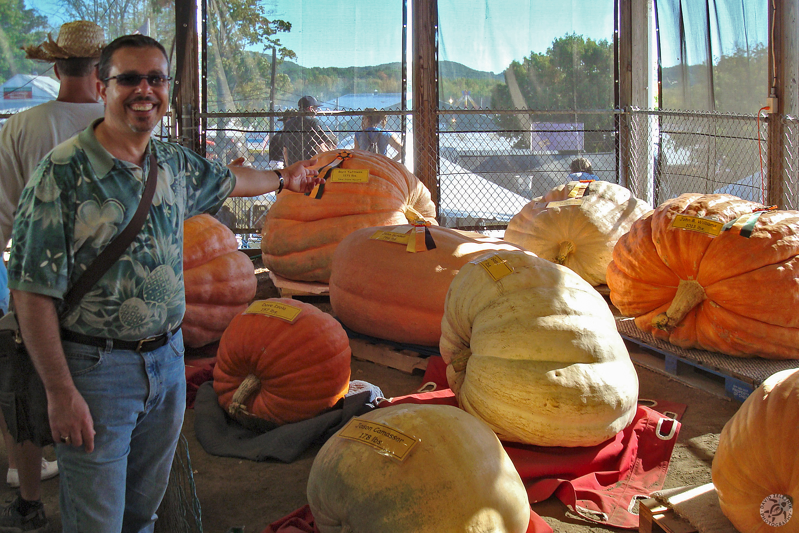
[[[321,180],[313,161],[225,168],[151,138],[169,97],[166,52],[152,38],[111,42],[97,72],[105,117],[58,145],[23,191],[9,285],[47,392],[63,531],[153,531],[185,411],[183,221],[231,195],[304,193]],[[59,320],[70,284],[136,211],[151,154],[145,225]]]

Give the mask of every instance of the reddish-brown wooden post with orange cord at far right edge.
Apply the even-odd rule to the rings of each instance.
[[[769,92],[779,102],[775,113],[769,115],[768,129],[768,191],[766,204],[779,205],[781,209],[797,209],[795,194],[790,193],[786,181],[793,181],[796,189],[797,169],[785,165],[785,127],[782,118],[799,113],[799,6],[796,0],[773,0],[769,6]],[[794,148],[795,149],[795,148]]]

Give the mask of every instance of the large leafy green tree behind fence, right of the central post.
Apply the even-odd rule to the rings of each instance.
[[[594,41],[582,35],[566,34],[555,38],[546,53],[531,52],[522,62],[511,62],[506,70],[506,79],[515,78],[528,109],[613,109],[613,61],[613,47],[605,39]],[[494,109],[519,107],[511,97],[511,87],[507,83],[497,84],[491,96]],[[586,130],[594,130],[586,131],[586,150],[607,149],[609,133],[597,130],[613,129],[611,113],[577,113],[571,115],[571,119],[582,122]],[[563,114],[555,113],[535,115],[534,120],[566,121]],[[501,129],[517,130],[511,137],[519,138],[520,146],[528,142],[523,133],[528,125],[519,115],[497,115],[495,121]]]

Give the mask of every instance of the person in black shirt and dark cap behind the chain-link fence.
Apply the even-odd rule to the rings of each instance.
[[[312,96],[301,97],[297,107],[302,115],[287,117],[283,131],[269,140],[269,160],[283,161],[284,166],[316,157],[317,154],[335,150],[338,140],[316,118],[321,104]]]

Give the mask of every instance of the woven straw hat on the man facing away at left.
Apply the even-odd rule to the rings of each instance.
[[[62,24],[58,41],[47,34],[47,41],[39,46],[27,46],[26,58],[54,62],[56,59],[99,58],[105,46],[105,36],[94,22],[79,20]]]

